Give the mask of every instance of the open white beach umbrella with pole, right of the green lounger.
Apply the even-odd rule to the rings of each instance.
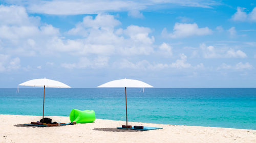
[[[124,88],[125,89],[125,107],[126,107],[126,127],[127,123],[127,101],[126,101],[126,88],[153,88],[150,84],[145,82],[135,80],[135,79],[119,79],[106,82],[102,85],[99,85],[98,88]]]

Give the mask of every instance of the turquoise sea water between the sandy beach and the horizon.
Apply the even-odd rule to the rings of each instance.
[[[0,89],[0,114],[42,115],[44,89]],[[125,121],[124,89],[46,88],[45,116],[92,109],[96,118]],[[127,88],[128,121],[256,129],[256,89]]]

